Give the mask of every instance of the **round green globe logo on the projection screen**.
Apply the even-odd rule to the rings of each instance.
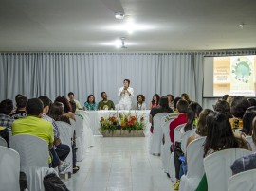
[[[252,74],[252,63],[247,57],[238,57],[232,62],[232,76],[247,83]]]

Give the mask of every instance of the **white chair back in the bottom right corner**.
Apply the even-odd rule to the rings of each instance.
[[[228,191],[256,190],[256,169],[235,174],[229,179]]]

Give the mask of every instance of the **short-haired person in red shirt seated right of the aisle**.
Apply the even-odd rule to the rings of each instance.
[[[189,106],[189,103],[186,100],[180,99],[177,102],[177,111],[179,114],[169,125],[169,128],[170,128],[169,135],[170,135],[171,142],[173,143],[173,150],[174,150],[174,145],[175,145],[174,130],[177,126],[187,123],[188,106]]]

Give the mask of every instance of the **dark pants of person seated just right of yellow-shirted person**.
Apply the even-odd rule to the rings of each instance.
[[[55,168],[60,165],[61,161],[64,161],[70,152],[70,148],[67,145],[59,144],[56,149],[51,148],[50,153],[52,155],[51,167]]]

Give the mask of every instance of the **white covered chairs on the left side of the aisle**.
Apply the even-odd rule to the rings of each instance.
[[[87,148],[93,145],[93,135],[92,131],[86,127],[86,124],[83,122],[84,120],[77,116],[76,121],[71,121],[71,125],[64,122],[56,122],[60,130],[60,138],[62,143],[68,145],[71,150],[71,139],[73,137],[74,130],[76,130],[76,143],[78,148],[77,160],[82,161],[84,158],[84,153]],[[85,127],[84,127],[85,126]],[[90,137],[90,138],[88,138]],[[44,191],[43,180],[47,174],[57,172],[53,168],[48,167],[48,146],[46,141],[40,139],[33,135],[28,134],[19,134],[10,137],[9,146],[10,148],[6,148],[8,144],[2,138],[0,138],[1,154],[0,156],[5,157],[5,160],[1,159],[1,175],[0,179],[0,190],[19,190],[19,173],[23,171],[27,175],[28,182],[28,190],[39,190]],[[3,148],[4,147],[4,148]],[[11,149],[13,148],[13,149]],[[8,151],[6,151],[8,150]],[[15,151],[16,150],[16,151]],[[16,165],[9,163],[9,165],[5,165],[9,158],[9,154],[12,153],[11,156],[16,155]],[[13,154],[14,153],[14,154]],[[7,157],[7,158],[6,158]],[[72,165],[73,158],[72,152],[66,158],[66,161]],[[2,166],[7,167],[6,170],[2,170]],[[15,174],[15,176],[6,176],[6,172]],[[72,168],[68,169],[69,172],[72,173]],[[7,182],[6,179],[2,179],[2,177],[9,178]],[[11,178],[10,178],[11,177]],[[13,181],[13,183],[11,182]],[[2,185],[6,185],[2,186]]]

